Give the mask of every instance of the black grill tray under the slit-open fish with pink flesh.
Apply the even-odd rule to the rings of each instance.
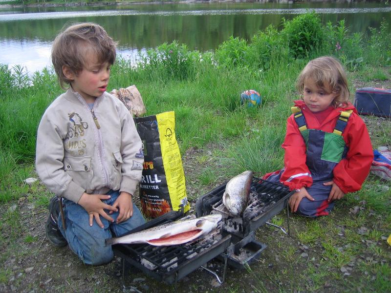
[[[172,222],[183,217],[183,213],[170,211],[129,233],[145,230],[156,225]],[[194,242],[173,246],[152,246],[149,244],[116,244],[114,254],[124,262],[138,268],[158,281],[172,284],[200,266],[226,251],[231,244],[231,235],[222,236],[222,230],[215,235],[211,244],[207,237]],[[206,238],[206,239],[205,239]],[[213,239],[212,239],[213,241]]]

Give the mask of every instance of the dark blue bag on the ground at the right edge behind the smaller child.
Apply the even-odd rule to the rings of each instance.
[[[353,105],[359,114],[391,117],[391,89],[359,88]]]

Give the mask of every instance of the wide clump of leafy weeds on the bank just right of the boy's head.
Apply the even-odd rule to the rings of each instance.
[[[193,78],[197,63],[199,53],[189,51],[186,44],[179,45],[177,41],[148,50],[140,60],[141,68],[149,71],[151,76],[153,71],[157,71],[162,78],[175,80]]]

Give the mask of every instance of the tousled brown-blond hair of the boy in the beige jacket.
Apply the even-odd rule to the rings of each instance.
[[[68,66],[78,74],[86,65],[86,56],[95,54],[99,63],[113,64],[116,57],[116,45],[99,24],[87,22],[70,25],[56,37],[52,46],[52,62],[60,86],[70,84],[63,73],[63,66]]]

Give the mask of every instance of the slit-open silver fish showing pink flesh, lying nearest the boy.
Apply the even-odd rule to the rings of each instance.
[[[208,234],[217,227],[221,218],[221,214],[212,214],[199,218],[178,220],[122,237],[106,239],[106,245],[118,243],[148,243],[154,246],[182,244]]]

